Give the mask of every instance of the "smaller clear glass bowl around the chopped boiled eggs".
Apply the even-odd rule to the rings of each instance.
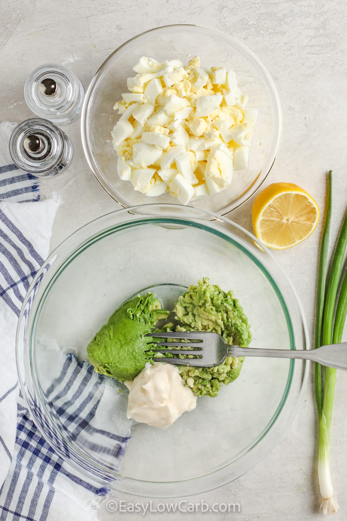
[[[173,25],[146,31],[114,51],[101,65],[87,90],[81,119],[84,153],[96,179],[123,207],[149,203],[178,204],[169,193],[148,197],[135,192],[130,181],[117,173],[117,154],[111,130],[119,119],[113,110],[126,78],[134,76],[132,66],[140,56],[159,61],[174,58],[184,63],[187,55],[199,55],[201,65],[225,66],[236,71],[241,90],[248,94],[248,105],[258,109],[253,129],[249,166],[235,171],[229,188],[213,197],[199,197],[191,206],[224,215],[234,210],[260,187],[274,164],[282,131],[282,115],[275,84],[261,61],[242,43],[214,29],[193,25]]]

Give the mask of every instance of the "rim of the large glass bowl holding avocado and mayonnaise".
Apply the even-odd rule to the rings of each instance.
[[[156,209],[156,207],[158,208],[158,213],[157,214],[154,211]],[[22,309],[21,309],[21,313],[20,313],[20,317],[19,317],[19,320],[18,320],[17,338],[16,338],[16,356],[17,356],[17,368],[18,368],[20,388],[22,390],[24,400],[25,400],[25,402],[27,402],[27,405],[28,405],[30,411],[32,410],[32,407],[28,403],[27,392],[25,390],[25,383],[24,383],[24,378],[23,378],[25,375],[21,374],[20,364],[19,364],[19,357],[20,357],[19,334],[20,334],[20,327],[21,327],[21,322],[23,321],[23,317],[24,317],[24,320],[26,320],[26,317],[25,317],[25,313],[26,313],[25,306],[27,304],[27,301],[29,299],[31,299],[31,296],[30,296],[31,295],[31,291],[35,287],[35,284],[36,284],[37,280],[42,276],[43,272],[45,271],[47,264],[49,264],[51,262],[54,263],[54,259],[58,258],[59,266],[56,267],[56,269],[54,270],[53,274],[49,277],[48,282],[46,284],[44,284],[45,287],[43,289],[42,295],[40,295],[40,298],[38,299],[38,304],[36,304],[36,306],[33,306],[34,307],[33,311],[34,311],[34,315],[35,316],[36,316],[36,313],[38,311],[38,308],[40,307],[40,302],[45,297],[45,294],[46,294],[47,290],[50,287],[50,282],[52,282],[52,280],[55,279],[55,277],[57,275],[57,272],[61,269],[61,267],[64,266],[67,261],[71,261],[70,257],[71,256],[75,256],[75,254],[81,249],[81,247],[85,246],[87,242],[89,242],[90,240],[93,240],[93,238],[95,239],[95,235],[96,234],[104,233],[107,230],[110,230],[110,228],[114,228],[116,226],[115,224],[113,224],[111,226],[105,227],[104,225],[105,225],[106,219],[109,219],[111,216],[113,216],[115,214],[117,214],[119,217],[124,216],[126,214],[130,214],[130,215],[134,216],[134,217],[131,217],[131,219],[128,219],[128,221],[127,221],[128,224],[131,224],[131,222],[136,223],[136,222],[138,222],[138,220],[146,220],[146,219],[148,219],[148,217],[159,217],[159,218],[160,218],[160,216],[161,217],[165,217],[165,216],[162,216],[162,212],[161,212],[163,207],[165,207],[165,209],[167,208],[168,212],[172,212],[173,214],[181,213],[181,215],[179,217],[182,220],[186,220],[188,222],[191,221],[191,218],[189,218],[189,215],[188,215],[188,218],[184,215],[185,212],[187,212],[187,210],[190,210],[191,212],[196,213],[196,214],[200,214],[200,215],[207,214],[208,217],[209,217],[207,222],[211,222],[211,221],[213,222],[215,220],[220,220],[220,221],[222,220],[224,222],[224,224],[229,225],[231,228],[236,229],[236,231],[238,231],[238,232],[242,232],[242,233],[246,234],[246,237],[248,237],[248,239],[251,239],[255,243],[256,246],[259,246],[260,249],[262,249],[265,252],[266,256],[270,256],[272,258],[272,260],[274,261],[274,265],[276,266],[276,269],[278,269],[278,273],[280,273],[282,276],[284,276],[284,278],[286,280],[286,283],[289,284],[289,288],[291,289],[291,291],[292,291],[292,293],[293,293],[293,295],[295,297],[295,300],[296,300],[298,308],[299,308],[299,314],[300,314],[301,322],[302,322],[302,329],[303,329],[302,336],[303,336],[303,339],[304,339],[304,346],[305,346],[305,349],[310,349],[310,338],[309,338],[309,333],[308,333],[308,330],[307,330],[305,314],[304,314],[303,307],[302,307],[302,304],[300,302],[299,296],[298,296],[297,292],[295,291],[295,288],[293,287],[293,284],[292,284],[291,280],[287,276],[284,268],[282,268],[281,265],[279,264],[279,262],[277,261],[277,259],[274,256],[274,254],[271,251],[269,251],[266,247],[264,247],[261,244],[261,242],[258,239],[256,239],[250,232],[248,232],[247,230],[242,228],[240,225],[236,224],[235,222],[231,221],[230,219],[228,219],[226,217],[220,217],[217,214],[213,214],[211,212],[208,212],[208,210],[201,210],[200,208],[191,208],[191,207],[187,208],[185,206],[175,205],[175,204],[147,204],[147,205],[140,205],[140,206],[131,207],[131,208],[119,209],[119,210],[115,210],[114,212],[110,212],[110,213],[108,213],[108,214],[106,214],[104,216],[100,216],[100,217],[98,217],[98,218],[88,222],[86,225],[84,225],[83,227],[79,228],[78,230],[76,230],[75,232],[70,234],[69,237],[67,237],[64,241],[62,241],[62,243],[60,243],[57,246],[57,248],[49,255],[49,257],[47,258],[47,261],[42,266],[42,268],[40,268],[40,270],[38,270],[36,276],[34,277],[32,283],[30,285],[30,288],[28,290],[27,296],[25,296],[25,299],[24,299],[23,305],[22,305]],[[140,210],[143,210],[143,209],[148,210],[148,213],[138,213],[138,212],[136,212],[136,210],[139,210],[139,209]],[[188,212],[188,213],[190,213],[190,212]],[[155,215],[153,215],[153,214],[155,214]],[[166,215],[166,217],[168,217],[168,216]],[[174,215],[173,217],[177,218],[176,215]],[[104,222],[102,222],[102,219],[104,219]],[[198,220],[198,217],[196,217],[196,219]],[[102,227],[101,231],[99,230],[98,232],[95,232],[95,230],[92,230],[92,224],[95,223],[96,221],[101,221],[102,222],[102,226],[103,227]],[[126,222],[124,219],[119,220],[118,221],[118,226],[120,224],[122,224],[122,223],[124,224],[124,222]],[[88,230],[88,228],[90,230]],[[70,250],[68,257],[64,257],[63,259],[59,259],[59,255],[58,254],[60,253],[60,250],[62,249],[63,244],[72,242],[73,237],[74,236],[78,236],[79,232],[81,232],[81,230],[83,230],[83,229],[84,229],[85,232],[89,232],[89,231],[92,232],[92,233],[88,233],[88,239],[85,240],[85,238],[79,237],[78,245],[77,246],[75,245],[75,247],[73,247],[73,249]],[[224,233],[225,233],[225,235],[227,235],[228,231],[225,230]],[[235,238],[233,238],[233,240],[236,241]],[[242,242],[239,243],[239,244],[242,246]],[[69,246],[70,246],[70,244],[69,244]],[[57,255],[58,255],[58,257],[57,257]],[[254,254],[252,254],[252,255],[254,256]],[[273,269],[266,268],[265,266],[264,266],[264,268],[266,269],[266,271],[268,271],[268,274],[271,275],[271,277],[272,277]],[[271,271],[269,271],[269,269],[271,269]],[[40,293],[40,290],[38,291],[38,293]],[[285,299],[285,295],[282,294],[281,290],[280,290],[280,294]],[[30,350],[31,350],[32,332],[33,332],[34,326],[35,326],[35,320],[33,320],[32,327],[31,327],[31,330],[30,330],[30,333],[29,333],[29,336],[30,336],[30,346],[29,346],[29,349]],[[27,350],[27,344],[24,345],[24,350]],[[237,463],[240,460],[246,460],[246,461],[247,461],[247,459],[249,460],[251,455],[254,454],[255,448],[258,446],[258,450],[256,451],[257,454],[258,454],[257,457],[256,457],[256,461],[255,462],[254,461],[253,462],[249,462],[248,461],[248,464],[246,465],[246,468],[243,469],[243,472],[239,473],[237,477],[241,476],[245,472],[248,472],[248,470],[250,468],[252,468],[252,466],[254,466],[255,464],[259,463],[263,459],[263,457],[265,457],[274,448],[274,446],[279,442],[279,440],[282,438],[282,436],[284,436],[285,432],[287,431],[287,429],[288,429],[292,419],[294,418],[294,416],[297,413],[298,408],[300,406],[302,394],[304,392],[304,389],[305,389],[305,386],[306,386],[306,382],[307,382],[307,378],[308,378],[308,375],[309,375],[309,368],[310,368],[310,364],[309,363],[304,363],[303,364],[303,370],[302,370],[303,376],[301,378],[300,390],[299,390],[298,394],[296,395],[296,398],[293,397],[295,401],[294,401],[294,404],[291,406],[290,414],[287,415],[286,418],[282,418],[282,425],[281,425],[281,428],[280,428],[279,436],[275,440],[271,441],[271,443],[270,443],[271,446],[266,446],[265,448],[263,446],[263,452],[261,454],[259,454],[259,449],[260,449],[260,446],[261,446],[261,443],[260,443],[261,440],[265,439],[265,438],[267,439],[268,436],[271,434],[271,431],[273,430],[273,427],[274,427],[275,423],[272,422],[271,428],[268,428],[268,427],[266,428],[267,430],[266,430],[264,436],[262,436],[261,439],[255,443],[255,445],[252,445],[252,447],[245,454],[243,454],[242,457],[239,458],[239,460],[236,460],[235,462],[232,462],[232,464],[234,464],[234,463]],[[34,382],[34,383],[36,383],[36,382]],[[290,388],[291,388],[291,384],[290,384],[290,387],[289,387],[289,390],[288,390],[288,394],[286,396],[286,399],[285,399],[284,403],[286,403],[286,401],[287,401]],[[276,421],[279,418],[281,411],[282,411],[282,408],[281,408],[281,410],[279,411],[279,413],[276,416]],[[33,420],[34,420],[35,425],[37,426],[38,430],[42,433],[43,437],[46,439],[45,432],[43,431],[41,426],[38,425],[38,423],[37,423],[37,421],[35,421],[35,419],[36,418],[33,415]],[[50,421],[50,418],[48,419],[48,421]],[[277,432],[277,434],[278,434],[278,432]],[[56,447],[54,447],[54,448],[56,450]],[[73,447],[73,449],[78,451],[78,452],[80,452],[78,448]],[[85,456],[83,454],[81,454],[81,455],[82,455],[83,458],[86,458],[86,461],[88,461],[88,456]],[[84,470],[81,469],[81,467],[78,464],[76,464],[73,461],[69,461],[69,463],[73,467],[77,468],[79,470],[79,472],[84,473]],[[236,477],[229,477],[228,476],[228,474],[229,474],[228,469],[229,468],[230,468],[230,463],[228,463],[227,465],[225,465],[225,466],[223,466],[223,467],[221,467],[219,469],[213,470],[207,476],[198,476],[196,478],[190,478],[188,480],[182,480],[182,481],[178,481],[178,482],[143,481],[143,480],[136,479],[136,478],[123,477],[122,476],[122,472],[120,471],[120,472],[117,472],[116,474],[119,477],[121,477],[122,479],[117,481],[117,482],[115,482],[114,489],[115,490],[119,490],[119,491],[123,491],[123,492],[126,492],[126,493],[133,493],[133,494],[144,495],[144,496],[151,495],[152,497],[159,497],[160,498],[160,497],[179,497],[180,495],[182,495],[182,488],[179,489],[177,493],[174,490],[172,490],[172,489],[175,486],[178,486],[178,488],[181,486],[181,487],[185,487],[185,489],[187,489],[187,490],[189,489],[189,487],[191,487],[190,488],[190,494],[194,495],[194,494],[197,494],[197,493],[201,493],[203,491],[212,490],[214,488],[220,487],[220,486],[225,485],[226,483],[230,482],[231,480],[236,479]],[[207,481],[209,483],[208,485],[207,485]],[[202,490],[201,490],[201,488],[199,489],[200,486],[202,487]],[[142,487],[141,491],[139,490],[140,487]],[[154,488],[158,487],[158,488],[160,488],[160,490],[158,489],[155,492],[153,492],[153,487]],[[193,490],[193,488],[194,488],[194,490]]]

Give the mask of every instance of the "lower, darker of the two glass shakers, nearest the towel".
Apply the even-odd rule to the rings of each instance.
[[[12,132],[9,152],[20,170],[38,177],[52,177],[63,172],[72,158],[72,145],[52,121],[27,119]]]

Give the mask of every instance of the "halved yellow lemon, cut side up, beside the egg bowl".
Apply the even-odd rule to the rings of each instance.
[[[318,220],[317,203],[291,183],[269,185],[256,197],[252,207],[255,236],[276,250],[286,250],[310,237]]]

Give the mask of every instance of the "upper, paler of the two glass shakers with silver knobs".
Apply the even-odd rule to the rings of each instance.
[[[70,123],[81,114],[84,87],[71,70],[46,64],[32,71],[24,85],[24,98],[37,116]]]

